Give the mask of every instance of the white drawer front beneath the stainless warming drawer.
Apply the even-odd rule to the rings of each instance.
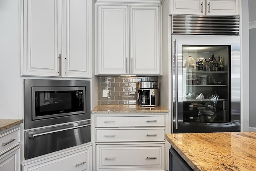
[[[89,171],[88,149],[52,161],[27,165],[24,171]]]

